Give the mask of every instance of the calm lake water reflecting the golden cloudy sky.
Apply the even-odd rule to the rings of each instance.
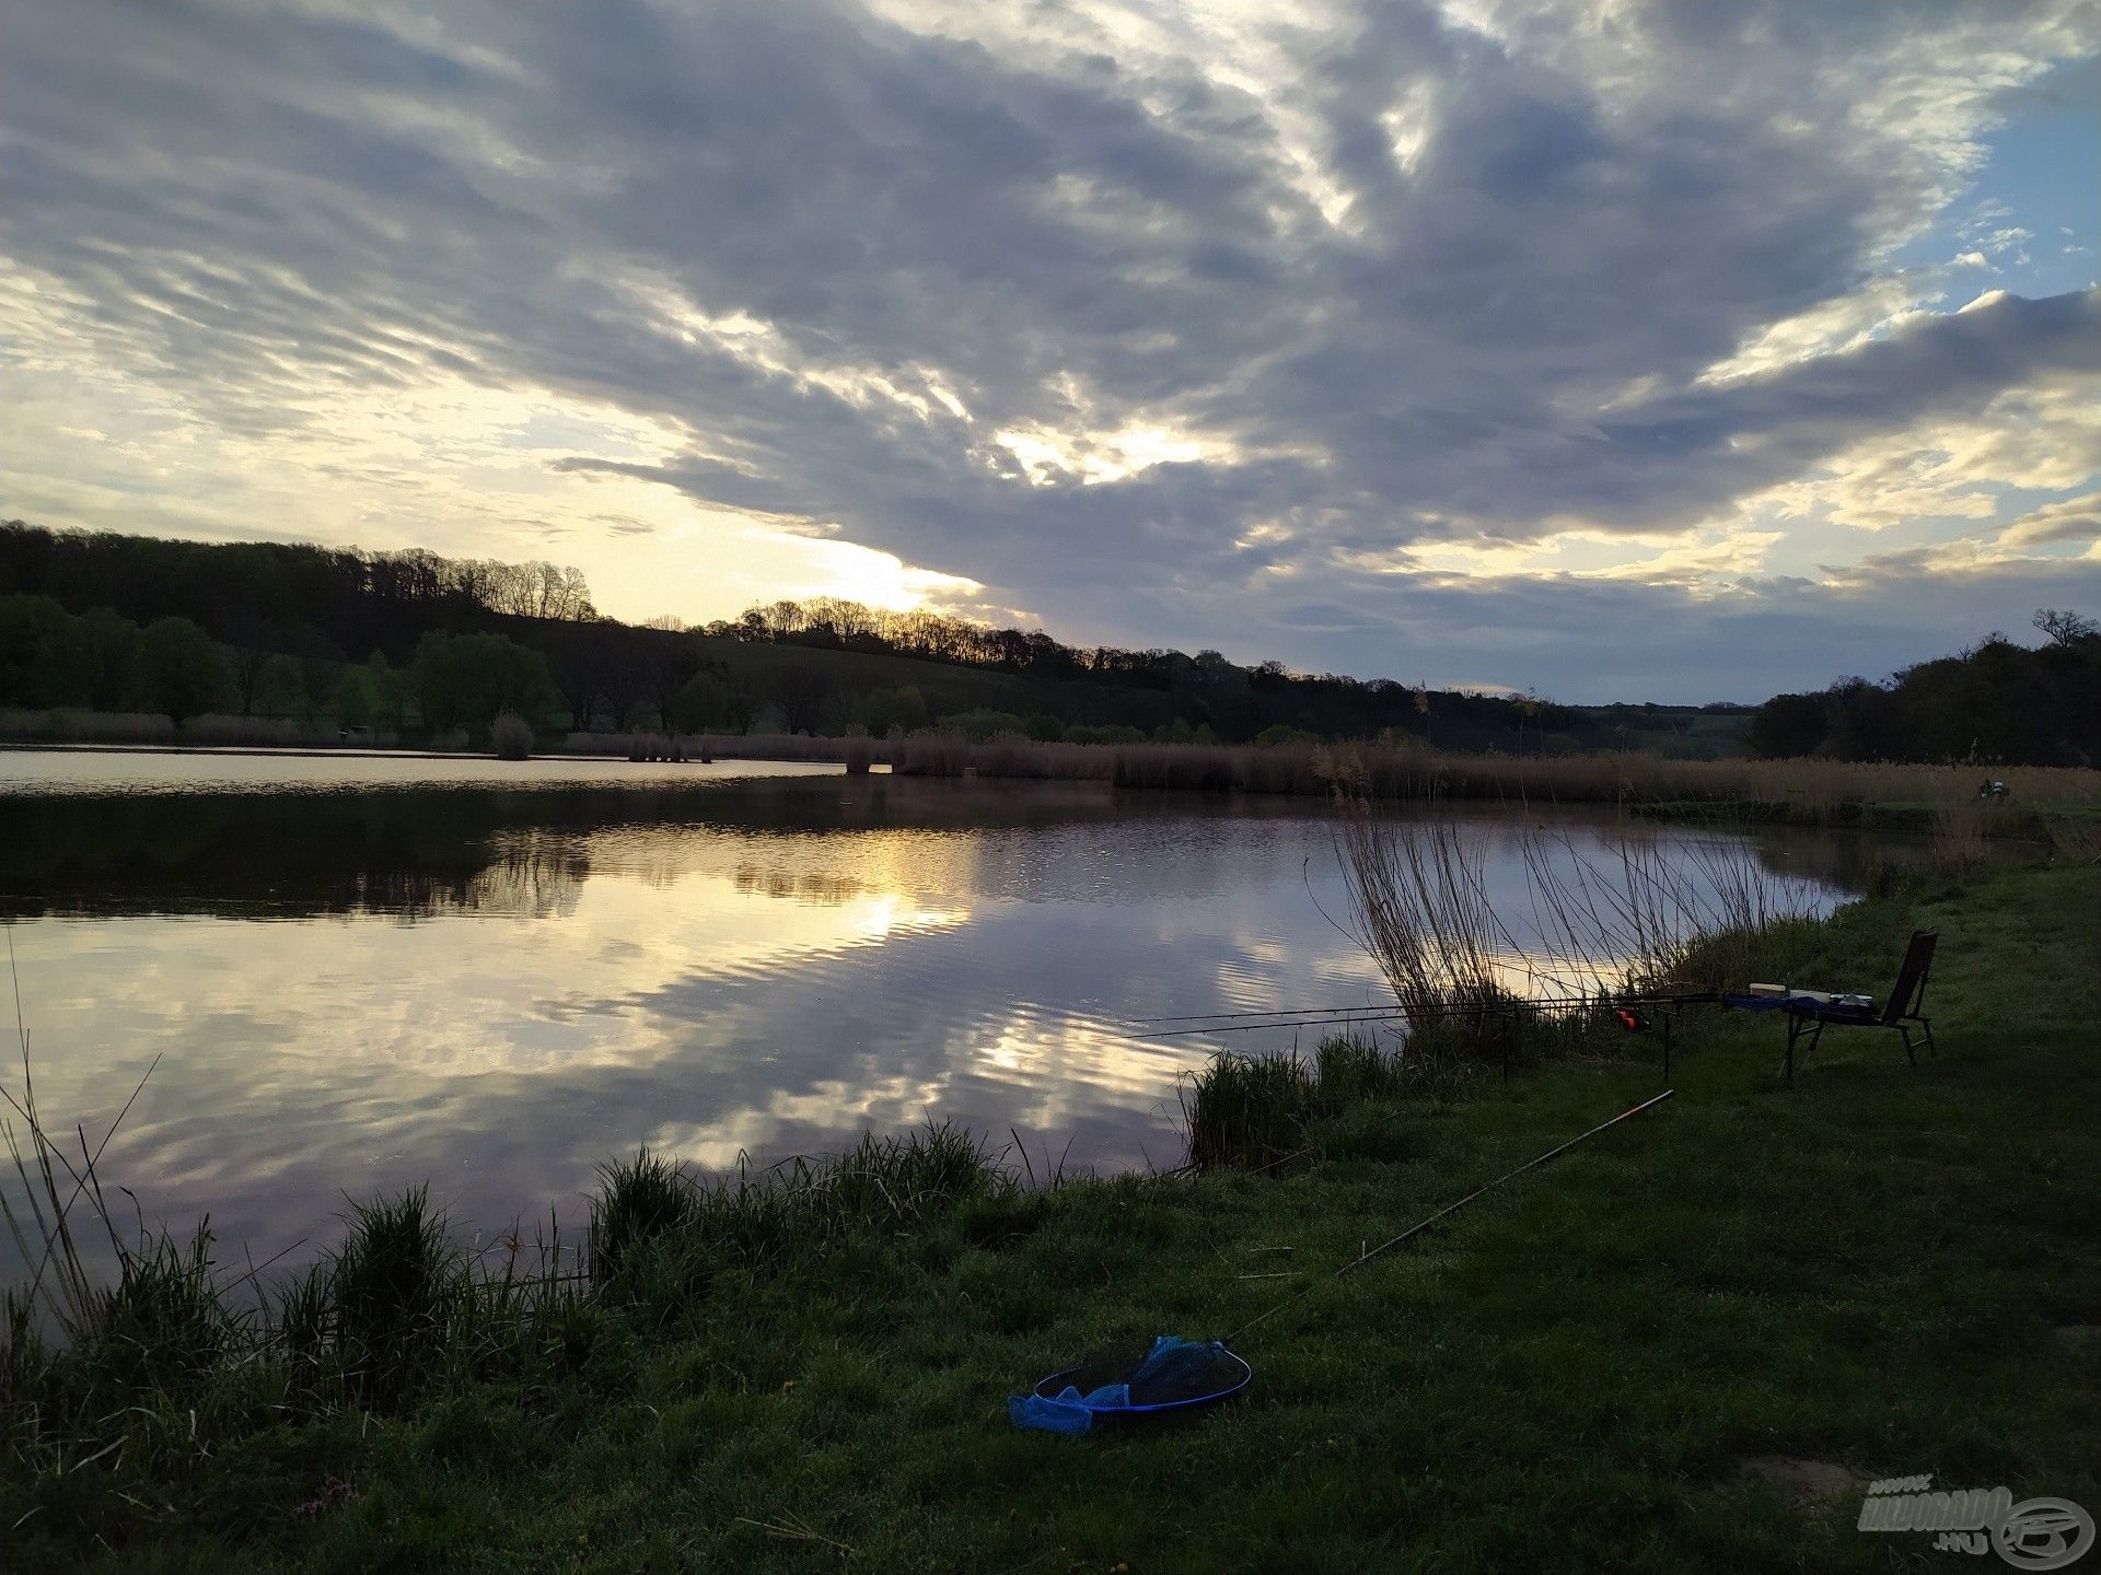
[[[1492,888],[1521,892],[1517,821],[1456,813]],[[1784,832],[1756,850],[1822,901],[1864,857]],[[46,1126],[99,1134],[151,1067],[105,1186],[149,1224],[210,1214],[258,1260],[321,1250],[345,1195],[424,1180],[462,1239],[550,1210],[578,1233],[592,1168],[643,1144],[723,1168],[956,1119],[1038,1166],[1172,1166],[1179,1077],[1292,1035],[1124,1025],[1378,1002],[1330,916],[1347,897],[1309,800],[0,752],[0,918]]]

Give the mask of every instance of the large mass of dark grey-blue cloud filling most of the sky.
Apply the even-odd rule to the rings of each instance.
[[[1101,10],[958,38],[845,0],[32,2],[0,246],[88,302],[84,355],[227,433],[435,374],[609,401],[689,454],[553,464],[836,531],[1059,632],[1359,672],[1521,680],[1538,632],[1601,617],[1712,651],[1771,617],[1763,645],[1830,657],[1887,617],[1925,655],[1916,601],[1838,584],[1729,613],[1364,559],[1689,527],[2101,370],[2086,294],[1700,380],[1874,277],[2006,61],[2095,48],[2074,4],[1645,4],[1611,59],[1555,8],[1336,6],[1235,71],[1120,48]],[[1114,460],[1128,428],[1204,447],[1032,485],[1002,437]]]

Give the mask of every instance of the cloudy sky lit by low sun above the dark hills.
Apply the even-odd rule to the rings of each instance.
[[[0,514],[1761,699],[2101,613],[2090,0],[11,0]]]

